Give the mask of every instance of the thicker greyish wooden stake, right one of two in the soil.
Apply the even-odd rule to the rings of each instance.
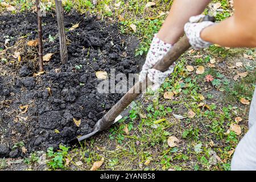
[[[68,49],[65,36],[65,27],[64,27],[64,15],[63,8],[61,6],[61,0],[55,0],[56,14],[57,14],[57,23],[59,30],[59,39],[60,39],[60,60],[62,64],[66,64],[68,61]]]

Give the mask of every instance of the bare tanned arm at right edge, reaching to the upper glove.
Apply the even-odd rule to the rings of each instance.
[[[225,47],[256,47],[256,1],[234,0],[234,15],[201,31],[207,42]]]

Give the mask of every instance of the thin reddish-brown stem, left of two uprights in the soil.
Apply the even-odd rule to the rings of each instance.
[[[44,71],[44,63],[43,63],[43,42],[42,42],[42,14],[40,13],[40,0],[36,0],[36,11],[38,13],[38,41],[39,41],[39,71]]]

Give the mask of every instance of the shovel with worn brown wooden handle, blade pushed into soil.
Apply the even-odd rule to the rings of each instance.
[[[214,22],[214,17],[205,16],[199,22],[211,21]],[[179,57],[191,47],[188,42],[186,35],[183,36],[174,46],[166,53],[166,55],[154,65],[154,69],[159,71],[167,71],[167,69],[177,60]],[[145,86],[146,84],[146,86]],[[80,143],[82,140],[91,137],[92,135],[98,133],[99,131],[108,129],[111,125],[121,119],[121,114],[123,110],[126,109],[132,101],[134,101],[139,94],[146,90],[147,85],[150,84],[150,80],[145,78],[142,82],[137,82],[122,98],[115,104],[93,127],[91,133],[86,134],[82,137],[77,137],[69,141],[69,144],[74,145]]]

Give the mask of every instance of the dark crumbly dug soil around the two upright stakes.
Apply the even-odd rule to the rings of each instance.
[[[22,142],[28,154],[57,148],[89,133],[122,96],[98,93],[101,80],[95,72],[110,73],[115,68],[116,74],[138,73],[133,55],[138,42],[121,35],[117,24],[77,13],[65,15],[64,21],[67,29],[80,22],[79,28],[67,32],[67,65],[60,64],[56,19],[47,14],[43,17],[44,55],[55,54],[45,63],[46,72],[34,76],[38,72],[37,49],[28,47],[27,41],[37,38],[36,14],[0,16],[0,61],[7,60],[0,63],[0,158],[24,156]],[[50,42],[49,35],[56,39]],[[10,41],[5,46],[7,38]],[[10,56],[16,49],[21,52],[20,63]],[[26,105],[28,110],[20,109]],[[81,119],[80,127],[73,118]]]

